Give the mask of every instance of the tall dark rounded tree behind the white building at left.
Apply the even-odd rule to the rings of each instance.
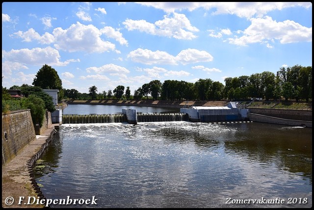
[[[42,89],[58,89],[58,101],[61,101],[64,93],[62,88],[62,81],[51,66],[45,64],[35,75],[32,85],[41,87]]]

